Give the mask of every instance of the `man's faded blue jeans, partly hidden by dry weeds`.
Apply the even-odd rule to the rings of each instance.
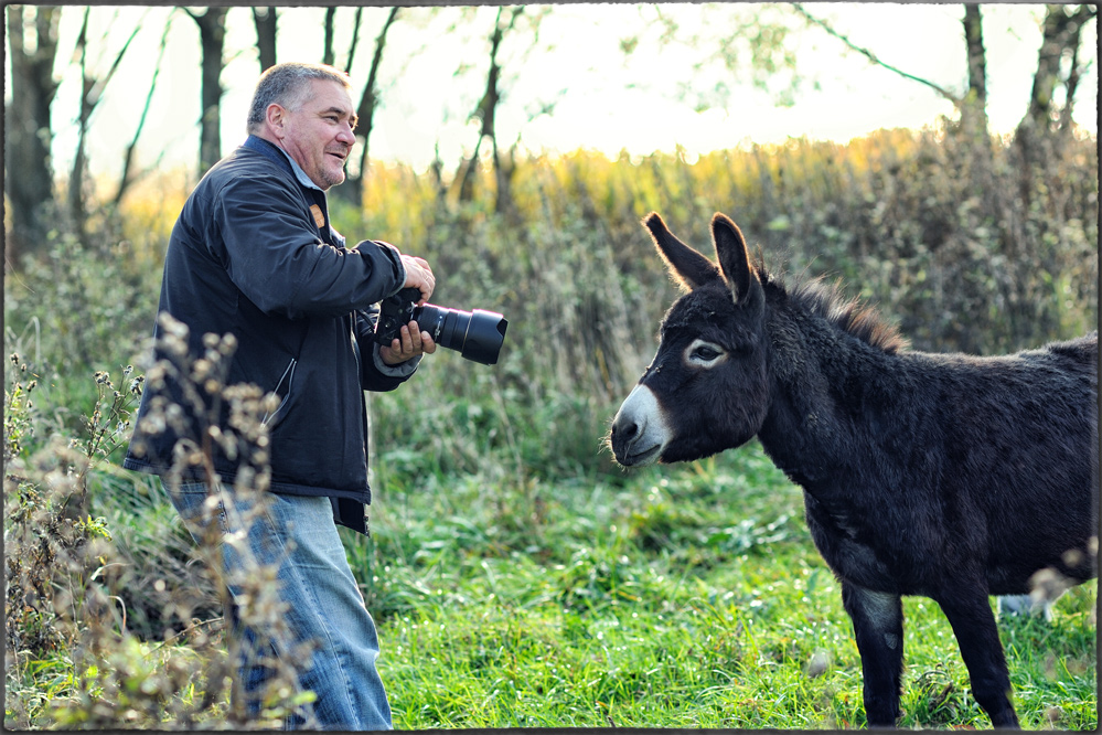
[[[299,691],[317,696],[286,716],[285,728],[389,729],[390,705],[375,670],[375,622],[349,567],[330,500],[271,493],[247,499],[228,487],[211,493],[205,483],[165,487],[196,542],[222,557],[232,598],[231,650],[239,650],[235,694],[249,716],[260,714],[265,684],[290,668]]]

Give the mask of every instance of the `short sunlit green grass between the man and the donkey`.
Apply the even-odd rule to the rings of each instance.
[[[512,496],[430,479],[373,513],[350,556],[398,728],[865,724],[838,585],[757,445]],[[1095,589],[1002,626],[1024,726],[1096,727]],[[937,605],[905,615],[900,724],[989,727]]]

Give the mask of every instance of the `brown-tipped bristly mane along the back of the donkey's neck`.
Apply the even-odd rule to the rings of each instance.
[[[824,277],[820,276],[789,289],[775,276],[767,273],[760,262],[757,271],[761,285],[767,290],[770,287],[779,289],[788,295],[798,308],[826,319],[863,342],[889,354],[906,350],[909,347],[907,339],[899,333],[894,324],[885,321],[876,309],[858,298],[847,299],[842,292],[841,279],[828,284]]]

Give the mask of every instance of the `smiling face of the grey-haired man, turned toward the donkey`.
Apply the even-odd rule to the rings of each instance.
[[[283,150],[322,190],[344,181],[344,161],[356,137],[356,114],[344,85],[311,79],[310,93],[297,109],[282,109],[278,127]]]

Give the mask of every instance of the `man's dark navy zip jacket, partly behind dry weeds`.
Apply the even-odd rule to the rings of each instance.
[[[367,414],[364,390],[389,391],[417,359],[388,368],[371,337],[375,306],[405,281],[398,252],[364,241],[344,246],[330,225],[325,194],[290,159],[250,137],[212,168],[184,204],[164,260],[159,312],[189,328],[192,356],[203,335],[233,333],[227,384],[275,392],[266,418],[272,492],[325,496],[334,519],[366,533]],[[154,327],[154,341],[161,335]],[[154,349],[154,356],[164,355]],[[179,383],[147,380],[124,467],[169,475],[172,448],[203,420],[185,407],[186,429],[143,422],[157,396],[180,403]],[[184,404],[186,402],[183,402]],[[221,411],[220,426],[228,413]],[[214,452],[233,482],[240,460]],[[183,476],[203,479],[197,468]]]

